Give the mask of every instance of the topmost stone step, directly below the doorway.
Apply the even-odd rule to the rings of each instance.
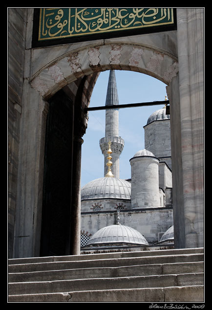
[[[9,259],[8,265],[16,264],[32,264],[32,263],[48,263],[48,262],[72,262],[72,261],[87,261],[108,258],[127,258],[127,257],[142,257],[142,256],[163,256],[163,255],[180,255],[180,254],[198,254],[204,253],[202,247],[186,248],[186,249],[168,249],[168,250],[153,250],[153,251],[132,251],[132,252],[112,252],[112,253],[97,253],[84,255],[69,255],[69,256],[47,256],[47,257],[32,257]]]

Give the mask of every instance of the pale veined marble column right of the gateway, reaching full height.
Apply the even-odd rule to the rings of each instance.
[[[185,247],[203,246],[204,9],[177,9]]]

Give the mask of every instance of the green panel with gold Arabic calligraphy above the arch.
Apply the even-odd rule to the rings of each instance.
[[[173,23],[173,8],[41,8],[38,41]]]

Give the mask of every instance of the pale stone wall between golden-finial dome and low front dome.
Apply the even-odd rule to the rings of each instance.
[[[81,229],[88,231],[89,234],[94,234],[97,230],[105,226],[113,225],[116,221],[117,206],[123,208],[123,210],[120,210],[121,224],[138,230],[150,242],[158,242],[158,233],[165,232],[173,225],[172,206],[169,209],[157,208],[158,210],[154,209],[146,212],[146,208],[133,211],[130,200],[125,200],[121,204],[117,199],[113,199],[112,201],[108,199],[97,199],[95,203],[101,204],[101,221],[99,220],[99,213],[92,212],[93,203],[91,201],[85,200],[81,202],[83,212],[81,214]],[[92,212],[92,215],[89,212]],[[153,214],[154,216],[152,216]]]

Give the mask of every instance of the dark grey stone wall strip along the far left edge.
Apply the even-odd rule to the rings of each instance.
[[[12,257],[27,10],[8,9],[8,256]]]

